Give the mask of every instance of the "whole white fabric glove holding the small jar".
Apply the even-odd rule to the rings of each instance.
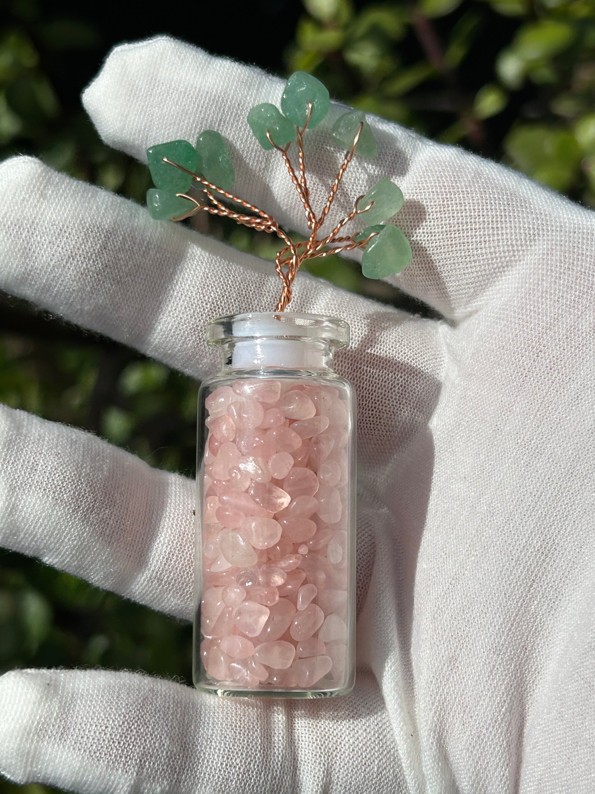
[[[158,38],[83,95],[103,139],[217,129],[236,190],[306,231],[246,114],[282,82]],[[333,114],[340,109],[335,107]],[[332,116],[334,118],[334,115]],[[335,215],[386,176],[412,317],[299,275],[294,310],[347,320],[359,396],[358,675],[337,700],[217,699],[132,673],[0,678],[0,770],[76,792],[582,792],[595,780],[595,217],[515,172],[370,119]],[[340,153],[308,133],[313,204]],[[0,287],[198,378],[205,322],[270,310],[272,265],[14,158]],[[191,616],[193,484],[98,438],[0,410],[0,542]]]

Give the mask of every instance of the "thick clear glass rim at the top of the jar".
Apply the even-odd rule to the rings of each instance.
[[[250,339],[301,339],[344,347],[349,344],[349,337],[349,326],[344,320],[299,311],[230,314],[217,317],[206,326],[209,345]]]

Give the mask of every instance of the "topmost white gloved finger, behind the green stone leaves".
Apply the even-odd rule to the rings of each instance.
[[[287,229],[307,231],[305,214],[278,152],[265,152],[246,121],[260,102],[278,106],[283,81],[230,60],[209,56],[168,37],[122,44],[83,94],[83,104],[107,144],[146,162],[150,145],[196,140],[217,129],[236,167],[236,192],[270,212]],[[344,152],[330,125],[345,108],[306,135],[313,206],[320,211]],[[413,264],[389,280],[448,318],[460,320],[505,279],[572,261],[589,213],[524,176],[460,148],[426,141],[396,124],[370,117],[378,158],[356,157],[344,177],[332,218],[379,177],[397,182],[405,206],[397,215],[413,247]],[[365,216],[362,218],[362,224]],[[514,293],[514,283],[509,294]]]

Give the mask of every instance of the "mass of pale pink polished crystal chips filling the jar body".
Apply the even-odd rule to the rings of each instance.
[[[215,686],[345,680],[348,414],[339,390],[265,377],[205,400],[199,654]]]

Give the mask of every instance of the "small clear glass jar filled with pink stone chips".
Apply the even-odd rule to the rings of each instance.
[[[355,392],[314,314],[209,323],[198,395],[194,684],[327,697],[355,680]],[[198,511],[197,511],[198,513]]]

